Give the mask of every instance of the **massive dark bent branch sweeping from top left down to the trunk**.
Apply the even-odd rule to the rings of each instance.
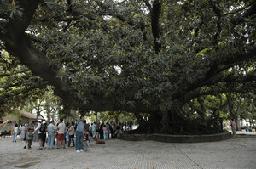
[[[59,70],[52,67],[49,59],[41,51],[36,48],[29,37],[24,33],[26,27],[32,20],[32,15],[38,7],[38,1],[20,0],[20,8],[24,9],[22,18],[11,20],[5,27],[5,33],[1,37],[10,54],[15,55],[20,62],[26,65],[34,75],[42,77],[50,85],[55,87],[55,95],[74,107],[79,107],[83,110],[126,110],[131,112],[145,112],[154,110],[154,105],[143,106],[138,104],[135,107],[129,107],[118,104],[115,99],[106,98],[103,95],[92,95],[87,104],[84,104],[76,97],[77,91],[73,90],[68,81],[61,81],[58,77]],[[23,23],[25,22],[25,23]]]

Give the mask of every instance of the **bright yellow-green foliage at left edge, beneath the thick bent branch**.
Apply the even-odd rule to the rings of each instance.
[[[0,115],[22,107],[28,100],[36,100],[44,94],[47,83],[32,76],[25,65],[20,65],[15,57],[4,50],[0,65]]]

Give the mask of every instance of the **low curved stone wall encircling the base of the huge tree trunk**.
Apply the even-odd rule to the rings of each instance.
[[[217,142],[231,138],[231,132],[208,135],[168,135],[168,134],[123,134],[121,139],[127,141],[154,140],[166,143],[201,143]]]

